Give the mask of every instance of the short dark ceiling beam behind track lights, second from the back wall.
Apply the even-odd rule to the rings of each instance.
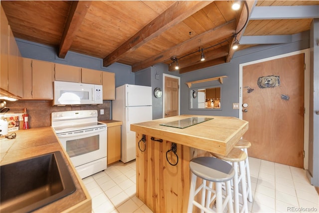
[[[228,55],[228,44],[218,47],[216,49],[212,49],[210,51],[204,51],[204,56],[205,56],[205,61],[200,61],[200,56],[201,55],[194,55],[190,58],[186,58],[186,59],[180,59],[178,60],[178,67],[179,69],[183,69],[192,65],[196,65],[196,64],[201,64],[201,63],[205,63],[207,61],[210,60],[214,60],[216,58],[220,58],[223,56],[227,56]],[[168,71],[175,71],[175,64],[172,64],[173,66],[169,66],[168,67]]]

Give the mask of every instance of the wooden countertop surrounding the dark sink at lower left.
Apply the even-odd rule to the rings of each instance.
[[[10,134],[11,132],[9,132]],[[20,161],[54,151],[61,151],[73,179],[76,191],[52,204],[44,206],[35,212],[92,212],[91,197],[88,194],[81,178],[78,176],[70,158],[60,145],[51,127],[30,128],[15,131],[16,138],[0,139],[1,165]]]

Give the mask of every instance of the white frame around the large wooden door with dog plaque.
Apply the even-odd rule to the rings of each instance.
[[[265,61],[270,61],[278,58],[285,58],[292,55],[305,54],[305,75],[304,75],[304,169],[308,169],[308,147],[309,147],[309,105],[310,105],[310,49],[299,50],[282,55],[277,55],[269,58],[264,58],[256,61],[250,61],[243,64],[239,64],[239,119],[243,119],[243,67],[251,64],[257,64]]]

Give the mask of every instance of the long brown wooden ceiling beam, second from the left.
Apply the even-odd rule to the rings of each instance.
[[[183,21],[212,1],[176,1],[168,9],[152,20],[143,29],[129,38],[124,44],[103,59],[103,66],[108,67],[117,62],[123,54],[131,52],[159,36],[170,27]]]

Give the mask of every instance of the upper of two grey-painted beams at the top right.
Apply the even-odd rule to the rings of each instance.
[[[319,5],[256,6],[250,20],[319,18]]]

